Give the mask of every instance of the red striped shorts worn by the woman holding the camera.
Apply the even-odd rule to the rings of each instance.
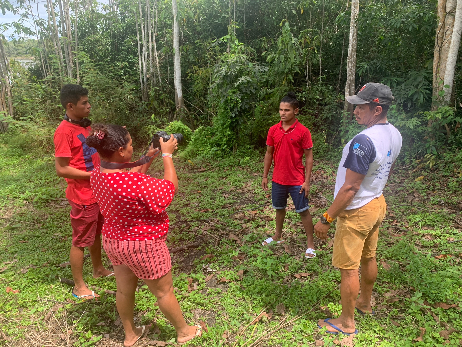
[[[127,265],[139,279],[158,279],[172,265],[167,234],[151,240],[116,240],[103,235],[103,248],[112,265]]]

